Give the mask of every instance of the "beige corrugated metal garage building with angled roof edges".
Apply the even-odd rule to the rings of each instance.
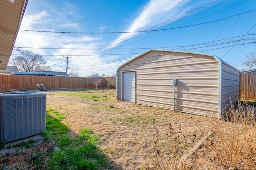
[[[136,104],[220,118],[239,99],[239,71],[215,55],[150,50],[116,75],[116,99]]]

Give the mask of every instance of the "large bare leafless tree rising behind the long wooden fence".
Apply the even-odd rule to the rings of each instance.
[[[22,72],[34,72],[35,70],[51,70],[49,66],[46,66],[46,61],[42,55],[34,54],[31,51],[21,51],[21,55],[15,56],[10,64],[17,66],[19,71]]]

